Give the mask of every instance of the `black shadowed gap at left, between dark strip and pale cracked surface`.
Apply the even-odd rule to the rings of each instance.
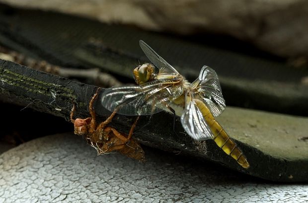
[[[74,130],[73,124],[65,119],[28,107],[1,102],[0,112],[0,142],[12,147],[38,137]]]

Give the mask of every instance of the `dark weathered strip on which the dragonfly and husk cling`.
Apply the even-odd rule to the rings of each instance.
[[[5,102],[65,117],[67,120],[75,102],[75,115],[85,118],[89,115],[88,102],[96,89],[95,86],[0,61],[0,99]],[[94,108],[101,120],[110,114],[101,107],[100,102],[96,101]],[[128,132],[134,118],[118,115],[112,126]],[[172,115],[167,112],[156,113],[152,117],[142,116],[134,136],[142,144],[216,161],[263,179],[308,181],[308,142],[299,139],[308,131],[307,118],[229,107],[218,117],[218,121],[244,152],[251,165],[248,170],[238,166],[213,140],[197,142],[186,136],[178,118],[175,135]]]

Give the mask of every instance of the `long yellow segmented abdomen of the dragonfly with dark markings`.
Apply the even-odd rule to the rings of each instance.
[[[243,168],[249,168],[247,159],[240,151],[240,149],[236,146],[236,144],[231,140],[223,127],[215,120],[210,109],[205,105],[204,102],[200,100],[195,100],[195,102],[201,110],[204,119],[209,124],[211,131],[214,134],[213,140],[216,142],[216,144],[220,148],[222,148],[222,150],[224,150],[226,154],[235,159],[236,162]]]

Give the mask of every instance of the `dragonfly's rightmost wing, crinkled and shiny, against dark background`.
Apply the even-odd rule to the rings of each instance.
[[[203,66],[199,78],[192,83],[192,86],[196,88],[195,94],[205,102],[214,116],[224,111],[226,103],[218,76],[212,68]]]

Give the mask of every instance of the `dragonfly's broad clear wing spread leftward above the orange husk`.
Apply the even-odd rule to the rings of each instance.
[[[102,105],[124,115],[150,115],[172,101],[176,81],[154,80],[141,86],[111,88],[103,92]]]

